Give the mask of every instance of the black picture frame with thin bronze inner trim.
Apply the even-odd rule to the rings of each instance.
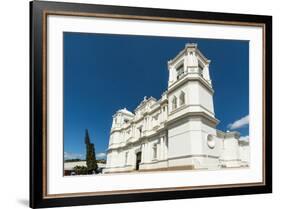
[[[202,188],[194,190],[170,190],[139,193],[52,196],[46,197],[44,178],[46,166],[44,147],[46,146],[46,79],[44,78],[44,18],[48,14],[79,16],[82,14],[114,14],[139,17],[196,20],[206,23],[241,23],[242,25],[261,24],[264,26],[264,184],[240,187]],[[160,20],[160,21],[161,21]],[[272,192],[272,17],[261,15],[229,14],[169,9],[105,6],[93,4],[30,2],[30,207],[44,208],[137,201],[199,198],[229,195],[245,195]]]

